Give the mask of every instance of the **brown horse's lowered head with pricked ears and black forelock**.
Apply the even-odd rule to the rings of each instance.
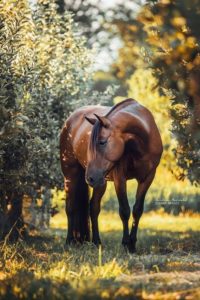
[[[87,153],[86,181],[92,187],[105,183],[105,176],[124,152],[121,131],[107,117],[85,117],[93,125]]]

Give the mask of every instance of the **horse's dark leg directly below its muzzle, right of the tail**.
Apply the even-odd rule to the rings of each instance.
[[[101,208],[101,198],[106,190],[106,184],[93,189],[92,199],[90,202],[90,217],[92,223],[92,242],[95,245],[101,244],[99,236],[98,216]]]

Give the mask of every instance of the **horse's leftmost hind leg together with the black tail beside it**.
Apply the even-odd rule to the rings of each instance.
[[[67,174],[65,175],[65,191],[68,220],[66,243],[89,241],[89,195],[84,170],[77,164],[68,167],[65,174]]]

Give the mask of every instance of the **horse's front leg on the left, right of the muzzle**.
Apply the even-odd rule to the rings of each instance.
[[[130,218],[130,206],[127,198],[126,191],[126,179],[119,178],[116,176],[114,178],[115,190],[117,194],[117,198],[119,201],[119,215],[123,224],[123,237],[122,237],[122,245],[125,247],[129,244],[129,228],[128,221]]]

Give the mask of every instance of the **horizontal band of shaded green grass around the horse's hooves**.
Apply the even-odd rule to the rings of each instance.
[[[35,251],[37,264],[51,261],[55,263],[70,258],[70,263],[77,268],[84,264],[98,265],[99,255],[102,264],[114,260],[125,262],[127,270],[136,270],[135,263],[141,263],[141,268],[155,271],[200,271],[200,235],[198,232],[171,232],[141,229],[138,234],[137,253],[130,255],[121,246],[121,231],[104,232],[102,251],[92,243],[65,246],[66,231],[53,229],[49,236],[32,236],[27,242],[31,251]],[[66,258],[67,257],[67,258]],[[46,263],[47,271],[49,266]],[[140,267],[139,267],[140,268]]]

